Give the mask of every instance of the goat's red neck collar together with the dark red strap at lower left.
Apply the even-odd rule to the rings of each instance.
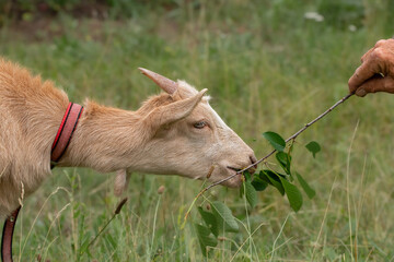
[[[50,169],[55,168],[61,156],[65,154],[68,145],[70,144],[73,132],[76,131],[78,120],[83,111],[81,105],[69,103],[65,116],[61,120],[60,127],[56,134],[55,141],[51,146],[50,155]],[[12,262],[12,237],[16,224],[18,214],[21,206],[18,206],[9,217],[7,217],[2,237],[1,237],[1,261]]]

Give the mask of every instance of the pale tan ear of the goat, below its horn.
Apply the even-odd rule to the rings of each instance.
[[[206,92],[207,90],[202,90],[190,98],[155,108],[144,118],[146,124],[155,132],[155,130],[164,124],[169,124],[187,117],[196,108]]]

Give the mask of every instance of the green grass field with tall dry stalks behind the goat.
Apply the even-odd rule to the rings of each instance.
[[[131,110],[160,92],[138,67],[184,79],[209,90],[213,108],[257,157],[271,150],[263,132],[288,138],[345,96],[361,55],[391,37],[394,24],[389,0],[119,2],[106,20],[66,12],[4,23],[0,53],[54,80],[70,100]],[[208,258],[193,226],[201,222],[196,209],[181,228],[202,181],[134,174],[126,206],[85,251],[119,201],[114,174],[59,168],[24,201],[15,259],[394,261],[393,108],[392,95],[351,97],[301,134],[293,168],[317,194],[304,195],[298,213],[274,188],[253,210],[237,190],[207,193],[225,202],[242,228],[222,235]],[[315,159],[304,148],[311,140],[322,145]]]

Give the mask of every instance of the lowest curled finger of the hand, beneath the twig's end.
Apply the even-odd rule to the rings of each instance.
[[[360,85],[360,87],[358,87],[358,90],[356,91],[356,95],[362,97],[366,96],[368,93],[376,92],[394,93],[394,79],[389,76],[374,76]]]

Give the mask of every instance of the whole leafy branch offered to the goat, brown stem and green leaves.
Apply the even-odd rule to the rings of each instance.
[[[239,170],[235,175],[206,187],[204,190],[201,190],[198,193],[198,195],[193,201],[193,204],[197,201],[199,196],[201,196],[209,189],[242,174],[244,176],[244,182],[243,182],[243,187],[241,187],[240,195],[241,196],[245,195],[245,199],[248,202],[248,204],[252,206],[252,209],[254,209],[257,205],[257,201],[258,201],[257,192],[262,192],[266,190],[268,186],[271,186],[276,188],[280,194],[282,195],[286,194],[289,200],[290,207],[294,212],[298,212],[302,207],[303,196],[301,190],[296,186],[294,182],[298,181],[299,186],[302,188],[304,193],[310,199],[312,199],[316,194],[316,192],[311,188],[311,186],[299,172],[294,171],[293,168],[291,168],[291,152],[293,148],[293,142],[296,141],[299,134],[301,134],[313,123],[317,122],[320,119],[325,117],[334,108],[336,108],[338,105],[347,100],[351,95],[352,94],[349,94],[343,97],[340,100],[335,103],[332,107],[325,110],[317,118],[306,123],[303,128],[301,128],[298,132],[296,132],[287,140],[283,140],[278,133],[271,131],[263,133],[263,136],[273,145],[274,151],[271,151],[268,155],[257,160],[257,163],[254,163],[247,166],[246,168]],[[290,146],[287,146],[287,143],[290,141],[291,141]],[[312,153],[313,158],[315,158],[316,154],[321,151],[320,144],[315,141],[308,143],[305,147],[310,153]],[[265,162],[268,157],[270,157],[274,154],[283,174],[269,168],[268,164]],[[259,172],[251,175],[248,172],[248,169],[262,162],[265,164],[267,168],[259,170]],[[186,213],[185,222],[192,206]],[[212,202],[210,203],[210,205],[207,206],[206,210],[204,210],[201,206],[198,206],[198,212],[204,221],[204,225],[195,224],[195,228],[197,231],[198,241],[200,243],[202,253],[205,255],[209,254],[210,248],[213,248],[218,245],[219,235],[221,233],[239,231],[239,225],[236,223],[235,217],[232,215],[231,210],[222,202],[219,201]]]

